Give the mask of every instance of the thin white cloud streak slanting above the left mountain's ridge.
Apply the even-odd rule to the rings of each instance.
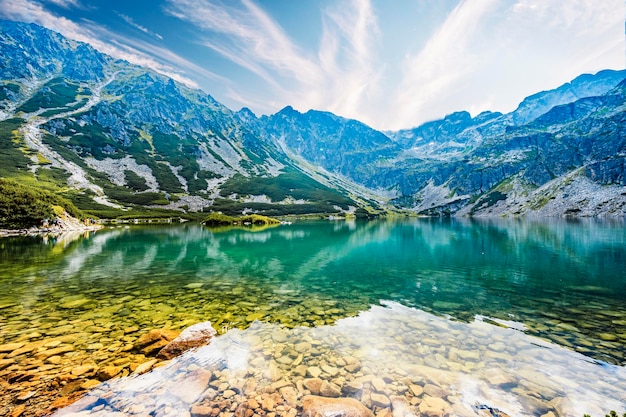
[[[167,49],[154,47],[145,42],[122,38],[93,22],[84,21],[81,24],[77,24],[67,18],[51,13],[42,4],[35,1],[0,0],[0,15],[7,19],[40,24],[70,39],[88,43],[100,52],[111,55],[114,58],[151,68],[190,87],[198,88],[199,85],[196,81],[183,75],[179,68],[189,68],[202,76],[218,78],[215,74],[202,69]],[[139,49],[143,49],[148,53],[141,52]],[[166,62],[170,62],[174,66],[157,61],[154,58],[155,56],[164,57]]]

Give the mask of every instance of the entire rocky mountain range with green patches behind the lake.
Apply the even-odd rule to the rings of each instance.
[[[0,21],[0,57],[0,177],[101,217],[626,215],[626,70],[391,132],[235,112],[34,24]]]

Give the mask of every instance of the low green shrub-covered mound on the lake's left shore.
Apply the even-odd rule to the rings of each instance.
[[[0,179],[0,227],[21,229],[41,225],[43,219],[53,219],[60,207],[69,215],[84,218],[84,214],[66,199],[49,191]]]

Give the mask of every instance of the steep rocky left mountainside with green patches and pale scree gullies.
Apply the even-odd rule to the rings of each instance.
[[[1,22],[0,55],[0,175],[69,185],[69,199],[100,212],[357,205],[202,91],[36,25]]]

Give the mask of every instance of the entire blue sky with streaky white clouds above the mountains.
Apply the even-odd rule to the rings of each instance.
[[[623,0],[0,0],[257,115],[291,105],[401,129],[512,111],[626,65]]]

